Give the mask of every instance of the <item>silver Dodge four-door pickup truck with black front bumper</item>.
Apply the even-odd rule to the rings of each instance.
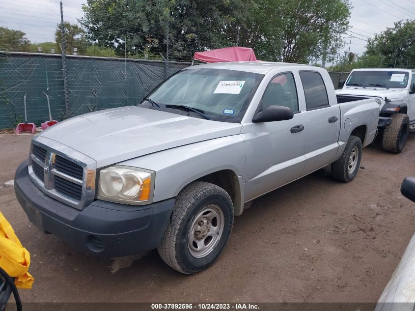
[[[244,203],[330,164],[337,180],[356,176],[381,100],[337,97],[317,67],[189,67],[136,106],[36,135],[16,196],[42,232],[83,252],[158,248],[193,274],[221,254]]]

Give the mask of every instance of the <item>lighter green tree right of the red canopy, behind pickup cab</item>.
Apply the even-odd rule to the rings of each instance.
[[[325,55],[331,61],[343,46],[342,33],[348,29],[348,0],[268,0],[262,8],[269,12],[262,20],[265,59],[307,62]],[[260,54],[260,56],[261,56]]]

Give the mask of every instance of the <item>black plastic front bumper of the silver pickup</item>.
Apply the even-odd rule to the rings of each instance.
[[[18,167],[14,186],[28,219],[42,232],[100,257],[157,248],[174,205],[173,198],[141,206],[96,200],[77,210],[40,191],[28,177],[27,161]]]

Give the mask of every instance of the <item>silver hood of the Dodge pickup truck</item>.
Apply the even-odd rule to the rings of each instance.
[[[97,168],[198,141],[236,135],[239,123],[205,120],[141,107],[87,113],[38,134],[97,161]]]

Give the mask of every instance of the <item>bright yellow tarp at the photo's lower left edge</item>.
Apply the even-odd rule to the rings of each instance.
[[[0,212],[0,267],[15,278],[18,288],[31,288],[33,277],[28,273],[30,254],[14,234],[13,228]]]

